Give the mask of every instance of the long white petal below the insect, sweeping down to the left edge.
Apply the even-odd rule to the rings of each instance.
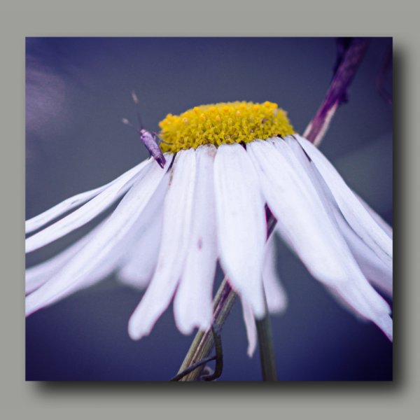
[[[121,200],[109,220],[106,221],[92,241],[61,272],[27,296],[27,315],[59,300],[62,296],[68,294],[67,290],[78,287],[78,283],[83,283],[86,274],[91,272],[102,261],[102,258],[109,255],[109,252],[130,231],[151,196],[155,193],[156,188],[158,188],[170,163],[171,160],[167,160],[165,169],[162,169],[157,162],[153,161],[151,165],[148,165],[146,171],[141,172],[137,182]]]

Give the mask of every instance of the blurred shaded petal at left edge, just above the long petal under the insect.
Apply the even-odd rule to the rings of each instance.
[[[42,286],[43,283],[47,282],[55,276],[60,269],[66,265],[67,262],[73,258],[78,251],[80,251],[83,246],[85,246],[94,235],[97,234],[99,229],[102,228],[105,221],[99,223],[96,228],[94,228],[91,232],[87,235],[79,239],[73,245],[66,248],[61,253],[55,255],[50,260],[42,262],[41,264],[35,265],[34,267],[30,267],[25,270],[25,294],[29,294],[36,290],[38,287]]]

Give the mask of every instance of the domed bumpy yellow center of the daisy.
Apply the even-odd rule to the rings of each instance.
[[[248,143],[293,134],[286,112],[265,102],[226,102],[196,106],[180,116],[168,114],[159,123],[162,152],[176,153],[201,144]]]

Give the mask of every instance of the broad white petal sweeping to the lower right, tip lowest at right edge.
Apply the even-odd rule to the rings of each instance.
[[[269,141],[253,141],[247,149],[280,232],[291,241],[309,272],[392,339],[388,304],[360,272],[307,173],[290,165],[291,155],[279,153]]]

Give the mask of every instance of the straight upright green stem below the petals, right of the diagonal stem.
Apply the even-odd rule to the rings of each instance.
[[[273,332],[267,302],[265,304],[265,317],[260,321],[255,320],[260,346],[260,359],[263,381],[277,381],[276,355],[274,353]]]

